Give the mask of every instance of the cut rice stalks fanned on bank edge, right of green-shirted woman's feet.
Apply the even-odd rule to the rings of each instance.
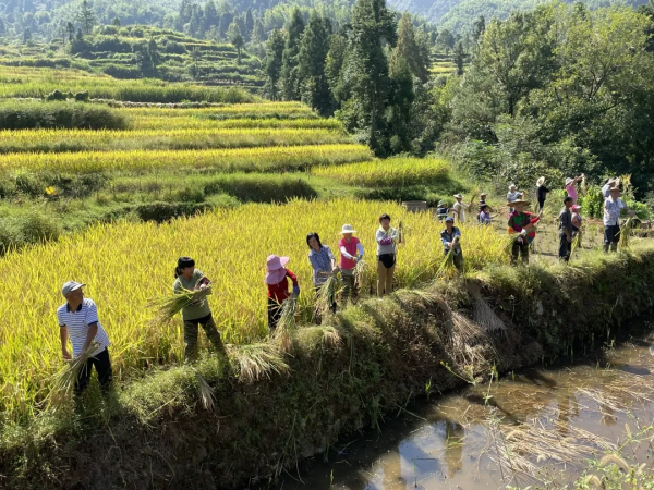
[[[230,359],[238,366],[239,380],[252,384],[263,378],[284,375],[289,365],[275,343],[263,342],[228,346]]]

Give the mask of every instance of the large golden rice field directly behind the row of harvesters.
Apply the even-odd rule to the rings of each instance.
[[[410,230],[398,254],[400,286],[428,281],[444,257],[441,223],[428,213],[408,213],[396,204],[352,199],[292,201],[282,207],[245,205],[165,225],[97,225],[59,243],[7,255],[0,260],[0,277],[5,282],[0,293],[4,305],[0,308],[0,418],[28,417],[50,390],[52,376],[62,364],[55,311],[63,303],[59,291],[64,281],[88,284],[86,294],[98,305],[120,381],[138,376],[146,360],[177,363],[183,357],[181,318],[155,326],[150,320],[156,311],[146,307],[152,298],[170,295],[179,256],[193,257],[213,281],[214,294],[208,301],[226,342],[257,342],[267,333],[266,257],[291,257],[289,268],[299,275],[302,291],[299,308],[307,321],[315,292],[306,233],[318,232],[323,243],[336,250],[341,225],[352,223],[366,248],[366,260],[374,264],[380,212],[401,219]],[[500,244],[505,237],[491,226],[471,224],[461,230],[464,260],[471,267],[507,261]],[[375,270],[366,269],[364,294],[374,284]],[[19,289],[16,278],[22,284]]]

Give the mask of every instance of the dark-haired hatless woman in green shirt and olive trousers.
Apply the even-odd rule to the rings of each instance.
[[[204,290],[210,284],[205,274],[195,268],[195,260],[191,257],[180,257],[174,268],[174,294],[186,291]],[[220,332],[216,328],[209,303],[206,298],[191,303],[182,308],[182,320],[184,322],[184,362],[189,363],[197,358],[197,334],[198,326],[202,326],[207,338],[218,353],[225,353],[225,345],[220,339]]]

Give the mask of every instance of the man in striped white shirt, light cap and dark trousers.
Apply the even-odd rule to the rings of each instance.
[[[65,297],[66,303],[57,309],[63,358],[66,360],[80,356],[86,358],[86,366],[80,371],[75,383],[76,395],[82,394],[88,385],[90,370],[94,366],[104,391],[109,388],[112,377],[109,338],[98,320],[98,310],[94,301],[84,297],[82,287],[85,285],[75,281],[66,282],[61,289],[61,294]],[[69,338],[73,344],[72,356],[68,348]],[[88,350],[92,342],[97,343],[98,347],[89,355]]]

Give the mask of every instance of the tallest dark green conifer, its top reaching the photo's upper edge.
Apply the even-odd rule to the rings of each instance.
[[[387,152],[384,112],[390,95],[385,45],[395,46],[397,23],[385,0],[356,0],[342,81],[348,100],[341,119],[377,152]]]

